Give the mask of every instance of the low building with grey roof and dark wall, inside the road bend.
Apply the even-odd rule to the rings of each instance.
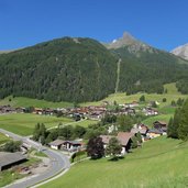
[[[0,172],[3,169],[8,169],[13,165],[19,165],[26,161],[26,157],[21,153],[8,153],[0,152]]]

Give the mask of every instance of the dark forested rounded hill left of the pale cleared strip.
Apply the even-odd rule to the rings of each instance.
[[[0,98],[92,101],[114,92],[115,58],[90,38],[64,37],[0,55]]]

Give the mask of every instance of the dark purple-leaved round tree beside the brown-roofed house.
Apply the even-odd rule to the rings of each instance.
[[[87,154],[92,159],[101,158],[104,156],[104,147],[101,137],[92,137],[88,142]]]

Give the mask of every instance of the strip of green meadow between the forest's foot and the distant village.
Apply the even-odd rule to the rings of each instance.
[[[167,84],[164,85],[164,88],[167,89],[167,93],[163,93],[163,95],[156,95],[156,93],[136,93],[136,95],[131,95],[131,96],[126,96],[125,92],[118,92],[118,93],[112,93],[109,95],[107,98],[100,100],[100,101],[95,101],[95,102],[85,102],[85,103],[80,103],[80,106],[99,106],[102,103],[102,101],[109,101],[111,103],[113,103],[113,101],[117,101],[118,103],[128,103],[128,102],[132,102],[132,101],[139,101],[140,97],[142,95],[145,96],[146,101],[158,101],[161,103],[161,108],[169,106],[172,100],[178,100],[178,98],[187,98],[187,95],[180,95],[177,91],[176,85],[174,84]],[[163,98],[167,99],[167,102],[162,102]],[[0,106],[2,104],[11,104],[12,107],[37,107],[37,108],[58,108],[58,107],[73,107],[73,103],[70,102],[49,102],[49,101],[45,101],[45,100],[37,100],[37,99],[30,99],[30,98],[24,98],[24,97],[15,97],[12,98],[7,97],[3,100],[0,100]]]

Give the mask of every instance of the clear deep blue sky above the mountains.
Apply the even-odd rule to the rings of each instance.
[[[188,43],[188,0],[0,0],[0,51],[64,36],[111,42],[123,32],[170,51]]]

